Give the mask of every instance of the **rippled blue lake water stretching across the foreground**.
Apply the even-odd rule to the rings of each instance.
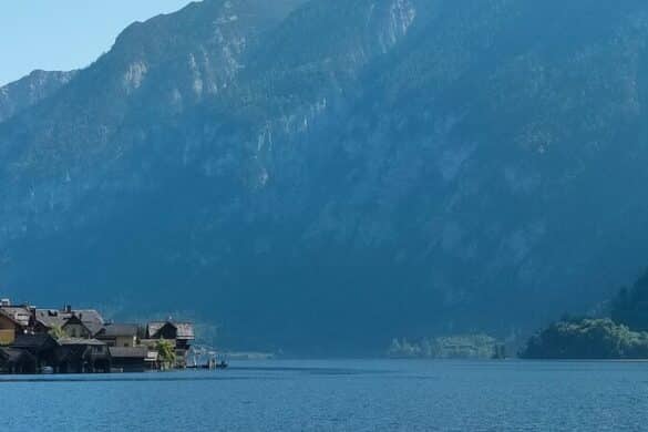
[[[648,363],[235,362],[0,377],[2,431],[639,431]]]

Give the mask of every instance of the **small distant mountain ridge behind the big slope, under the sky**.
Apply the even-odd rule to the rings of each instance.
[[[33,71],[23,79],[0,88],[0,122],[54,94],[76,71]]]

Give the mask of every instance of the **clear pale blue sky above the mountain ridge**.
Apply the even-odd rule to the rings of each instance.
[[[130,23],[189,0],[0,0],[0,86],[34,69],[83,68]]]

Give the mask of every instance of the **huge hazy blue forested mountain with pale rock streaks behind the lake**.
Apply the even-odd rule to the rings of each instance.
[[[0,123],[4,290],[320,354],[586,309],[648,253],[647,40],[638,0],[135,23]]]

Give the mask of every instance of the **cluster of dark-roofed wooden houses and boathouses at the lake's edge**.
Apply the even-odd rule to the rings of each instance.
[[[191,322],[119,323],[94,309],[38,309],[0,301],[0,373],[142,372],[185,368]],[[164,343],[175,356],[160,357]]]

